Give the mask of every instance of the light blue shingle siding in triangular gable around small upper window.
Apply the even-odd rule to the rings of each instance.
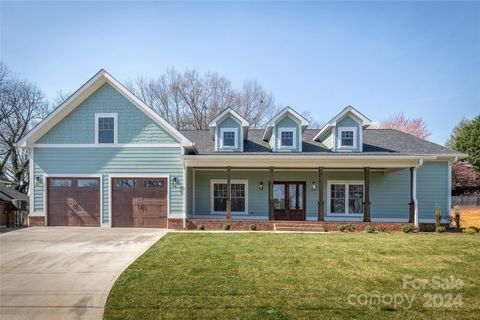
[[[118,143],[178,143],[109,84],[97,89],[37,143],[95,143],[95,113],[118,114]]]

